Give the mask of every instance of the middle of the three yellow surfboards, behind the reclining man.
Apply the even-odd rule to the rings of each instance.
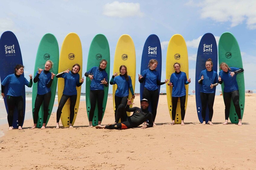
[[[131,76],[133,91],[135,89],[135,76],[136,76],[136,54],[135,47],[131,36],[124,34],[122,35],[116,44],[115,48],[115,57],[114,57],[114,67],[113,74],[116,72],[119,74],[119,68],[121,65],[125,65],[127,68],[127,73]],[[110,76],[111,79],[112,76]],[[113,85],[113,108],[115,113],[115,91],[117,85]],[[128,99],[132,97],[131,91],[129,90]],[[133,99],[132,99],[133,102]],[[130,105],[132,107],[132,104]],[[130,116],[130,112],[127,112],[127,115]]]

